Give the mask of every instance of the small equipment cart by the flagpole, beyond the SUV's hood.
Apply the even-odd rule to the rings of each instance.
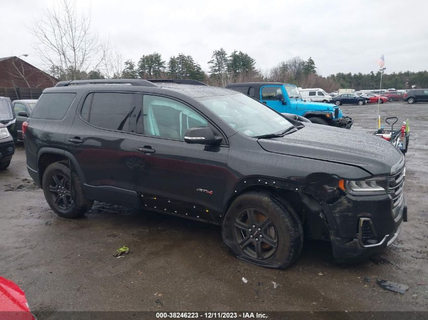
[[[386,141],[391,142],[391,144],[396,146],[404,155],[406,155],[407,148],[409,146],[409,138],[410,138],[409,120],[407,120],[406,122],[403,122],[403,125],[401,126],[400,130],[394,130],[394,124],[396,124],[397,121],[398,121],[397,117],[387,117],[385,119],[385,122],[391,125],[391,130],[385,130],[383,126],[380,125],[380,116],[379,116],[378,129],[373,134],[380,136],[380,138],[383,138]]]

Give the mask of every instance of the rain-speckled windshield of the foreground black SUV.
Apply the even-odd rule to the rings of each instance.
[[[232,128],[251,137],[281,133],[292,126],[274,110],[243,94],[196,98],[196,100]]]

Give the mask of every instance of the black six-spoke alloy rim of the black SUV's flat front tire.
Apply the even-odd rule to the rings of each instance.
[[[255,208],[238,213],[234,235],[240,249],[255,259],[267,259],[278,247],[278,232],[274,222]]]

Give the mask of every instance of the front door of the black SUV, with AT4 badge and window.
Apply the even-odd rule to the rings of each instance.
[[[137,190],[147,209],[206,220],[221,220],[229,148],[225,144],[187,144],[188,128],[210,126],[190,106],[177,100],[140,95],[135,141]]]

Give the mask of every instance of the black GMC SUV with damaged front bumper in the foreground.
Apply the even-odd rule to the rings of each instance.
[[[28,172],[58,215],[96,200],[211,222],[261,266],[296,261],[303,234],[367,257],[407,218],[390,143],[198,81],[59,82],[23,126]]]

